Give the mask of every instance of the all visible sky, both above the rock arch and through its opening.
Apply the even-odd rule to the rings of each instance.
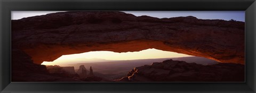
[[[64,11],[12,11],[11,19],[19,20],[23,17],[45,15],[49,13]],[[179,16],[195,16],[199,19],[220,19],[220,20],[236,20],[245,22],[244,11],[123,11],[135,16],[147,15],[158,18],[170,18]],[[133,59],[154,59],[154,58],[177,58],[190,57],[191,55],[180,54],[157,49],[147,49],[139,52],[116,53],[111,51],[93,51],[80,54],[62,55],[53,62],[43,62],[44,65],[59,65],[70,62],[99,62],[100,59],[105,60],[133,60]]]

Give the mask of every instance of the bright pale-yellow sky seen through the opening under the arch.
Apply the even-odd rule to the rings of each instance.
[[[190,57],[191,55],[162,51],[157,49],[147,49],[138,52],[112,52],[112,51],[91,51],[79,54],[62,55],[53,62],[44,61],[44,65],[65,66],[70,63],[84,62],[104,62],[113,60],[135,60],[135,59],[156,59],[156,58],[177,58]]]

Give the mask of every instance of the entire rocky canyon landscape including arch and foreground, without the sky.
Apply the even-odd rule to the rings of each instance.
[[[12,20],[11,31],[13,82],[245,81],[240,21],[72,11]],[[42,64],[68,54],[153,48],[193,57]]]

